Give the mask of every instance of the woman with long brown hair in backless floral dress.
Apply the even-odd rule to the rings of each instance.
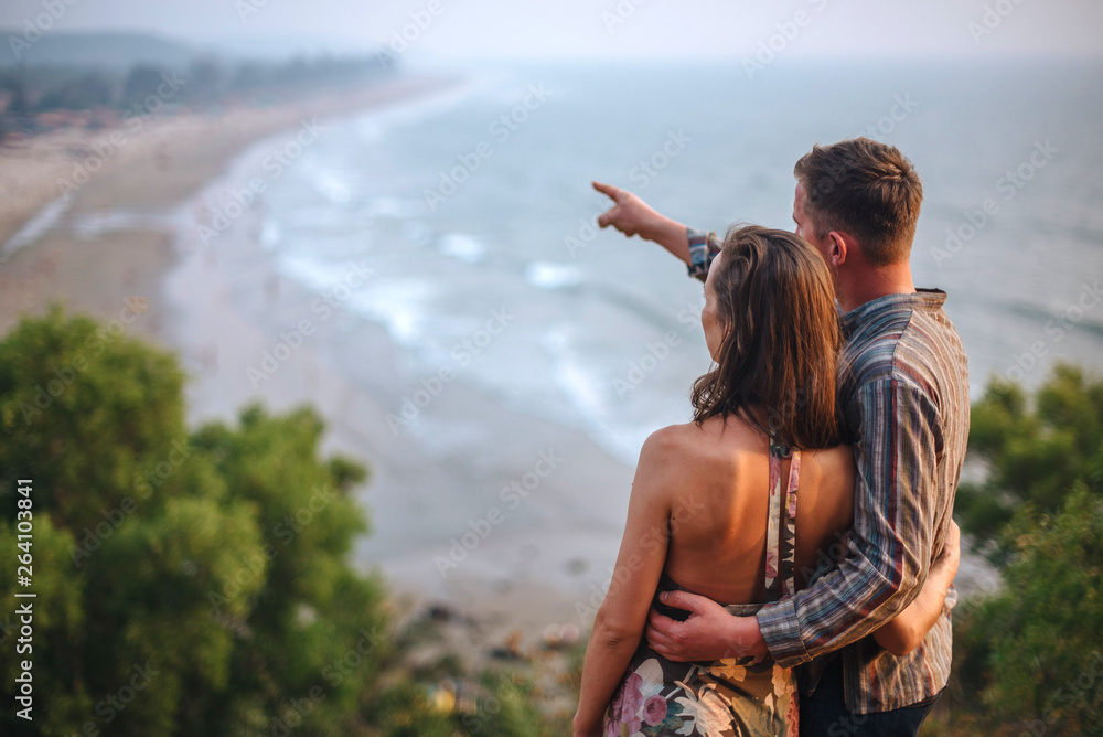
[[[796,735],[790,671],[770,660],[674,663],[641,635],[653,599],[664,608],[658,591],[684,588],[740,616],[792,594],[817,551],[850,526],[855,469],[839,445],[842,334],[827,267],[796,235],[732,228],[709,269],[700,321],[716,365],[694,385],[694,421],[654,432],[640,453],[587,647],[579,737],[624,728]],[[938,576],[956,570],[956,560],[936,565]],[[882,627],[878,642],[896,654],[917,647],[941,612],[936,589]]]

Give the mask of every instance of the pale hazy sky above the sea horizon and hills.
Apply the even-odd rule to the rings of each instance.
[[[445,57],[739,57],[760,43],[794,55],[1103,55],[1101,0],[3,0],[0,25],[49,7],[65,8],[58,29],[200,41],[367,47],[405,26],[410,53]]]

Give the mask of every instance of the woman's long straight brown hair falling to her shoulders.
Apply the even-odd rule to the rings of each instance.
[[[694,383],[694,421],[742,417],[796,449],[840,441],[836,404],[842,328],[827,265],[806,241],[732,226],[713,275],[724,337]]]

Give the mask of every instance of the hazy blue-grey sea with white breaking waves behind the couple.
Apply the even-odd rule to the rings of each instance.
[[[319,310],[386,328],[406,391],[388,421],[427,452],[493,438],[432,399],[462,382],[585,432],[627,464],[689,418],[708,368],[702,285],[658,246],[598,231],[593,179],[682,222],[791,229],[794,162],[866,135],[925,201],[912,267],[949,295],[974,397],[1103,366],[1103,67],[778,62],[448,70],[428,97],[324,125],[256,173],[258,237]],[[270,143],[269,143],[270,147]],[[292,156],[293,154],[293,156]],[[355,275],[355,279],[351,275]],[[329,346],[350,375],[370,356]],[[507,430],[506,430],[507,431]]]

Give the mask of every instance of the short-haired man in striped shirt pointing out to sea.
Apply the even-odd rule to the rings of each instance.
[[[816,146],[795,175],[796,233],[827,261],[847,334],[839,404],[858,469],[854,530],[837,566],[821,566],[807,588],[756,617],[731,617],[676,591],[663,600],[692,616],[677,622],[652,610],[646,635],[675,661],[769,653],[784,667],[812,663],[797,671],[802,735],[914,735],[950,674],[956,594],[928,575],[952,532],[965,457],[965,353],[942,309],[946,295],[912,284],[922,185],[911,162],[895,147],[857,138]],[[661,244],[704,279],[719,248],[715,235],[630,192],[595,188],[615,202],[601,227]],[[866,637],[921,591],[929,601],[931,589],[938,601],[946,595],[945,606],[935,607],[918,648],[896,655]]]

